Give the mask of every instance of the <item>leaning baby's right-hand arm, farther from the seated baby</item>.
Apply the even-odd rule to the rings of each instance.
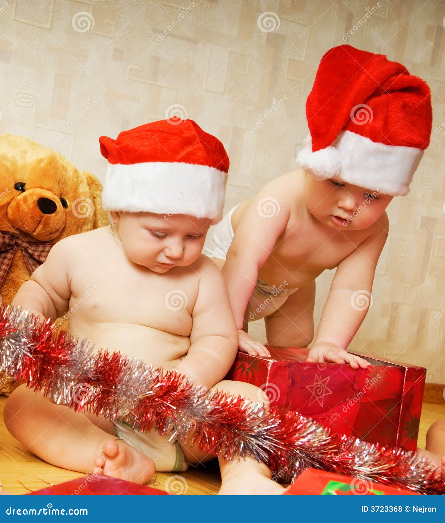
[[[376,231],[338,264],[309,361],[349,362],[355,369],[369,365],[346,349],[369,309],[375,266],[388,232],[386,214],[380,222],[383,226],[377,225]]]

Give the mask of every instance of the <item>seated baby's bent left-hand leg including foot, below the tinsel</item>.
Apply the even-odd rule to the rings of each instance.
[[[9,432],[26,449],[56,467],[88,472],[94,470],[96,460],[103,467],[96,472],[138,483],[145,483],[154,473],[150,458],[113,440],[116,434],[111,422],[57,405],[25,385],[9,396],[4,419]]]

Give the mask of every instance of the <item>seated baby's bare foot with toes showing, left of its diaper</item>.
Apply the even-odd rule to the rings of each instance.
[[[95,474],[119,477],[134,483],[146,483],[155,473],[153,460],[122,439],[104,443],[102,454],[95,459]]]

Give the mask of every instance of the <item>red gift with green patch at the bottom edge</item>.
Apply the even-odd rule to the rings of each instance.
[[[361,480],[358,477],[344,476],[324,470],[306,469],[287,488],[284,495],[321,495],[321,496],[418,496],[404,488],[390,487],[375,481]]]

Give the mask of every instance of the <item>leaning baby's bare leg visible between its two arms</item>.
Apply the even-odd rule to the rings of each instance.
[[[294,292],[265,317],[269,345],[307,347],[314,336],[315,281]]]

